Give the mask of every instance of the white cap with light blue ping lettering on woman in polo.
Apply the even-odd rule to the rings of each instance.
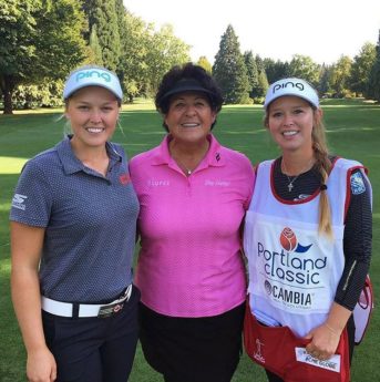
[[[120,101],[123,100],[123,91],[116,74],[95,65],[85,65],[69,74],[63,89],[63,100],[68,100],[74,92],[85,86],[104,87]]]

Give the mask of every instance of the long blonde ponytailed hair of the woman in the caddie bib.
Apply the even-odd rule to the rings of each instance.
[[[329,159],[329,152],[326,141],[325,125],[322,122],[321,113],[310,104],[314,111],[314,126],[311,132],[312,151],[316,159],[315,167],[321,176],[320,198],[319,198],[319,218],[318,218],[318,233],[326,235],[329,239],[333,238],[331,225],[331,210],[327,196],[327,179],[331,171],[331,161]],[[264,116],[264,125],[269,127],[269,109],[266,109]]]

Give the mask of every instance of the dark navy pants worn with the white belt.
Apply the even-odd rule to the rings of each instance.
[[[65,318],[42,311],[47,344],[58,368],[57,382],[126,382],[138,339],[140,290],[107,318]]]

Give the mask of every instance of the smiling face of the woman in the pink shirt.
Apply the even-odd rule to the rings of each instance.
[[[203,93],[179,93],[171,99],[165,124],[178,143],[198,143],[206,141],[216,112]]]

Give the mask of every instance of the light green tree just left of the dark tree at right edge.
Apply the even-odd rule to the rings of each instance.
[[[357,94],[367,95],[369,76],[376,60],[376,45],[367,42],[358,55],[353,58],[348,86]]]

